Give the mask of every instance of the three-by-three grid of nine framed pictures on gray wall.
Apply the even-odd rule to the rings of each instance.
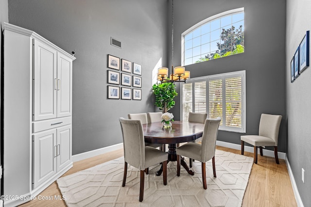
[[[142,66],[110,54],[107,60],[107,98],[141,100]]]

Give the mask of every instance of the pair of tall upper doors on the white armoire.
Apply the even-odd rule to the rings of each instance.
[[[34,121],[71,116],[72,59],[34,39]]]

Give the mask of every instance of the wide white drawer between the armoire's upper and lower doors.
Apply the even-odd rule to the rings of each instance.
[[[70,123],[71,123],[71,116],[57,118],[57,119],[44,120],[44,121],[35,121],[33,122],[33,133],[41,132],[47,129],[53,129],[53,128],[64,126]]]

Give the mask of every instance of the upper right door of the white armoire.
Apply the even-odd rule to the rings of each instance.
[[[71,116],[72,61],[57,52],[57,117]]]

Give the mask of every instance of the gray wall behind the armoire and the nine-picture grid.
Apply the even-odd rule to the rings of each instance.
[[[30,29],[73,62],[72,154],[122,142],[119,117],[154,111],[152,69],[167,61],[167,0],[10,0],[9,22]],[[122,49],[110,45],[110,37]],[[107,99],[107,54],[142,65],[142,100]],[[113,69],[110,69],[113,70]]]

